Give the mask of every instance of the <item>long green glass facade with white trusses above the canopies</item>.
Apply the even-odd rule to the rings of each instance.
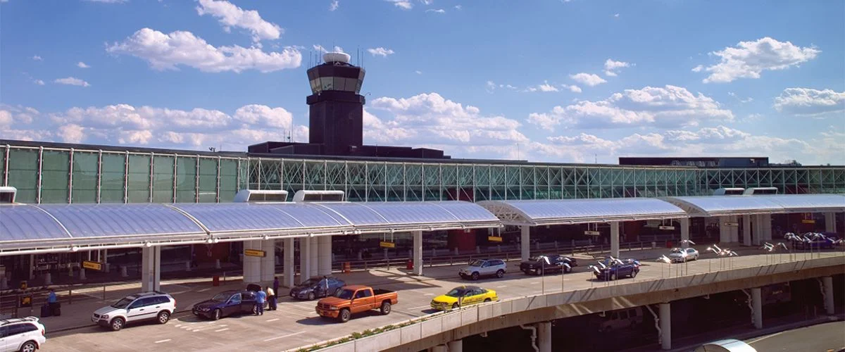
[[[845,193],[845,166],[700,169],[620,165],[303,160],[0,146],[20,203],[231,202],[237,190],[341,190],[351,201],[708,195],[720,187]]]

